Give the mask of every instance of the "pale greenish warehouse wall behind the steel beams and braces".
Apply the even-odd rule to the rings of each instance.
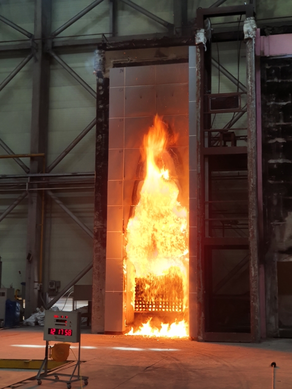
[[[137,4],[151,11],[160,18],[172,23],[173,2],[170,0],[135,0]],[[63,25],[92,0],[53,0],[52,31]],[[195,18],[198,7],[207,8],[214,0],[197,0],[188,2],[188,20]],[[227,0],[228,5],[240,5],[242,1]],[[1,0],[0,14],[24,29],[34,32],[34,0]],[[282,19],[292,15],[292,2],[286,0],[257,1],[256,13],[259,23],[268,24],[269,18],[283,23]],[[261,19],[267,21],[260,22]],[[285,23],[292,20],[284,19]],[[224,20],[216,20],[223,23]],[[234,23],[238,23],[234,20]],[[224,25],[223,25],[224,27]],[[165,32],[165,28],[146,16],[118,2],[117,35],[139,35]],[[58,39],[75,36],[83,39],[109,32],[109,0],[105,0],[90,13],[60,34]],[[24,36],[4,23],[0,24],[0,41],[23,40]],[[8,44],[8,43],[7,43]],[[232,74],[237,74],[238,43],[220,43],[213,45],[213,58],[217,60],[217,48],[220,63]],[[58,55],[94,90],[96,76],[93,74],[94,50],[75,50],[58,52]],[[106,54],[107,71],[117,63],[143,62],[157,60],[188,60],[186,47],[165,49],[140,49],[112,51]],[[0,57],[0,82],[21,62],[24,57],[5,55]],[[244,45],[240,48],[239,80],[244,83]],[[0,137],[15,153],[30,152],[31,109],[32,109],[32,61],[0,92]],[[218,86],[218,71],[212,69],[214,90]],[[234,89],[235,88],[235,89]],[[236,86],[220,75],[220,92],[235,91]],[[96,100],[55,60],[51,61],[49,132],[46,163],[49,165],[67,145],[95,117]],[[217,117],[214,126],[220,126],[225,117]],[[240,125],[243,125],[244,117]],[[5,151],[0,147],[0,154]],[[29,163],[27,159],[24,162]],[[92,129],[83,140],[61,161],[52,172],[86,172],[94,171],[95,166],[95,130]],[[0,174],[23,174],[21,167],[13,159],[0,162]],[[17,187],[15,188],[17,189]],[[56,195],[72,210],[91,230],[93,229],[94,188],[55,190]],[[0,214],[19,196],[16,190],[0,192]],[[25,281],[26,245],[27,245],[27,200],[24,200],[12,213],[0,223],[0,256],[3,261],[2,284],[13,285],[21,289]],[[61,288],[78,274],[93,257],[93,244],[89,238],[50,198],[46,202],[45,255],[44,255],[44,291],[48,290],[50,280],[61,281]],[[89,272],[79,281],[91,284]]]

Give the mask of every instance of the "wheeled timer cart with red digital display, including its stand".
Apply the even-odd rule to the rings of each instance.
[[[65,382],[67,388],[71,389],[71,383],[83,379],[84,384],[88,384],[88,377],[80,375],[80,341],[81,341],[81,316],[80,312],[46,311],[44,340],[46,340],[45,359],[36,376],[38,384],[42,384],[42,379],[53,382]],[[79,343],[78,360],[74,366],[72,374],[48,373],[49,341]],[[45,371],[43,369],[45,368]],[[77,374],[75,371],[77,369]],[[63,379],[59,378],[64,377]]]

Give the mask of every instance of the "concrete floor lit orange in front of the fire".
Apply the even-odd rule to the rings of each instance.
[[[42,339],[42,328],[2,330],[0,357],[42,359]],[[292,339],[269,339],[259,344],[198,343],[89,333],[83,333],[81,339],[82,373],[89,376],[88,389],[270,388],[272,361],[277,364],[275,389],[292,389]],[[34,370],[0,369],[0,388],[35,374]],[[42,386],[37,381],[21,386],[37,387],[67,388],[65,383],[48,381]],[[72,389],[80,387],[80,382],[72,384]]]

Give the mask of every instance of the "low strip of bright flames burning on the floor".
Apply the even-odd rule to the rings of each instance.
[[[142,335],[142,336],[156,336],[156,337],[178,337],[185,338],[188,336],[188,324],[185,320],[174,322],[172,324],[163,324],[161,323],[161,329],[152,328],[150,325],[150,318],[147,323],[142,324],[137,331],[134,331],[132,327],[131,330],[126,333],[126,335]]]

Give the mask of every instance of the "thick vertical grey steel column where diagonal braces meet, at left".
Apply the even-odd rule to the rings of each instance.
[[[42,38],[49,36],[51,27],[51,0],[35,1],[35,38],[36,59],[33,68],[33,98],[31,124],[31,154],[46,153],[48,114],[49,114],[49,76],[50,56],[45,52]],[[43,158],[31,158],[30,172],[43,171]],[[42,261],[41,242],[43,232],[43,197],[40,190],[29,192],[28,237],[26,265],[26,309],[28,318],[39,306],[38,284],[40,283],[40,263]]]

